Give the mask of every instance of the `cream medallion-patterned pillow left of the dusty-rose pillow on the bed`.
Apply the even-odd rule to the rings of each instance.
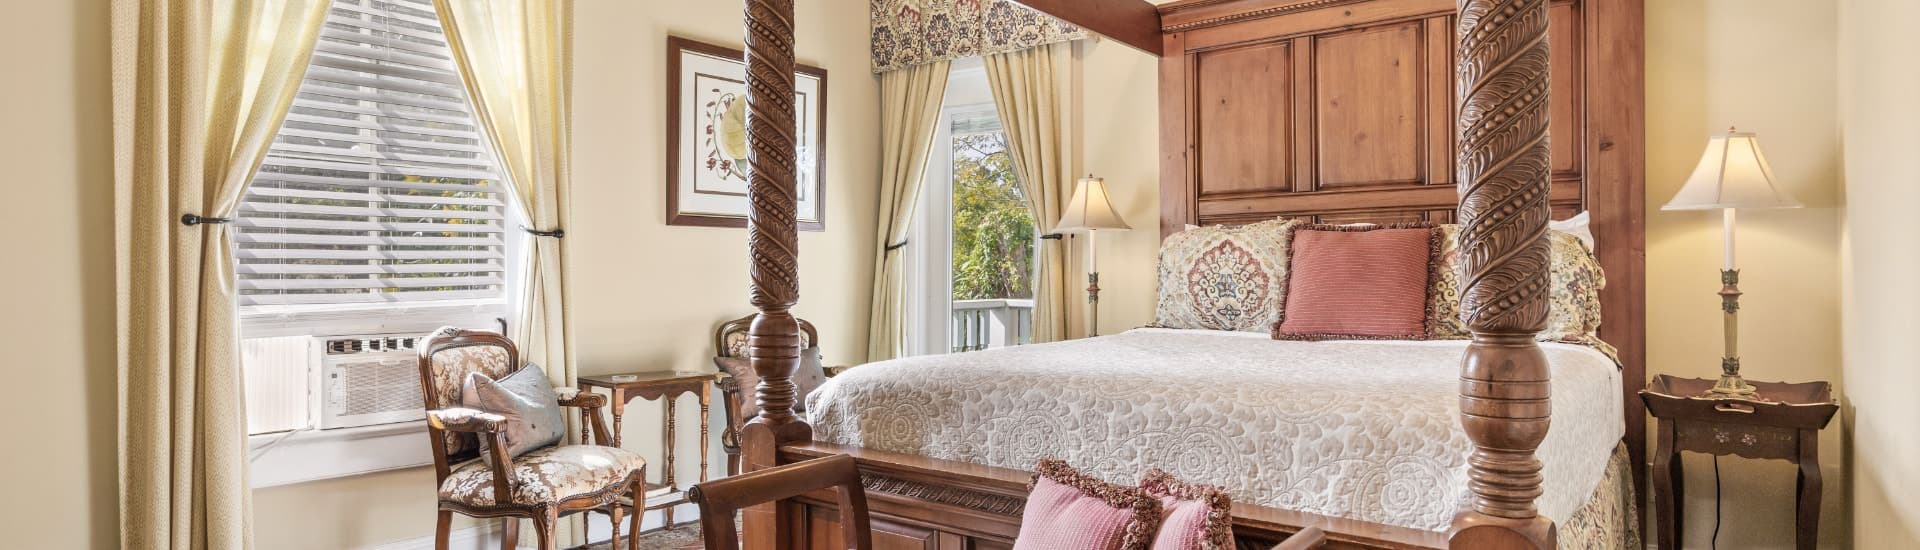
[[[1160,244],[1154,327],[1261,333],[1286,298],[1286,248],[1296,219],[1175,233]]]

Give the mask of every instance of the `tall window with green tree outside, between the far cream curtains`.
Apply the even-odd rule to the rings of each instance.
[[[908,265],[908,352],[945,354],[1033,340],[1033,213],[979,60],[960,60],[927,160]]]

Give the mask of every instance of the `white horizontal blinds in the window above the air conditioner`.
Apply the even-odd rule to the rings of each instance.
[[[430,0],[336,0],[240,215],[240,304],[501,300],[507,188]]]

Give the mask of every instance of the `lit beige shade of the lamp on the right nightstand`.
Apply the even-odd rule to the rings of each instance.
[[[1707,140],[1707,152],[1680,192],[1661,210],[1801,208],[1774,185],[1774,167],[1753,133],[1726,129]]]

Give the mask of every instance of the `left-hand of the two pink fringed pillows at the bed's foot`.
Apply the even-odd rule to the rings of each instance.
[[[1160,527],[1154,496],[1048,458],[1033,473],[1014,550],[1146,550],[1154,527]]]

